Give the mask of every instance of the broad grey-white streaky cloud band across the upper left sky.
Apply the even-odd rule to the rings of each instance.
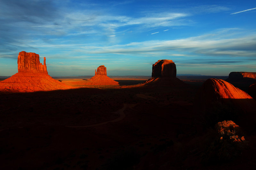
[[[104,10],[99,12],[94,6],[90,8],[95,4],[87,4],[88,7],[85,5],[84,8],[74,10],[65,7],[68,1],[64,1],[64,5],[60,1],[46,0],[37,3],[32,1],[24,0],[22,3],[18,0],[13,3],[9,3],[8,0],[0,1],[0,16],[4,16],[0,19],[2,52],[20,51],[19,49],[25,50],[28,47],[38,49],[45,44],[56,48],[62,44],[70,48],[72,44],[84,43],[84,41],[116,44],[123,41],[120,37],[123,38],[124,34],[141,33],[156,27],[184,26],[189,23],[186,20],[188,14],[185,12],[159,11],[142,13],[137,17],[115,15]],[[131,2],[127,1],[127,3]],[[65,42],[67,39],[70,42]],[[40,44],[36,46],[36,43],[28,43],[29,41],[44,41],[44,43],[42,46]]]

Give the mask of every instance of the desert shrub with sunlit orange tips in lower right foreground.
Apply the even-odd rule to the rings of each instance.
[[[201,155],[205,165],[225,163],[234,160],[247,147],[247,141],[241,136],[242,131],[233,121],[222,121],[215,125],[212,141],[206,143],[205,152]]]

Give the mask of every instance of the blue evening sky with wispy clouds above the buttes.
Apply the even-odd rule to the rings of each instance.
[[[0,76],[20,51],[46,57],[50,76],[150,76],[161,59],[177,74],[256,72],[256,1],[1,0]]]

